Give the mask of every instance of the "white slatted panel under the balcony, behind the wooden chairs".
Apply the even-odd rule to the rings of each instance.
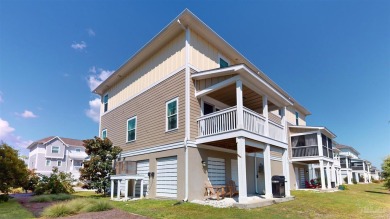
[[[207,172],[212,186],[226,185],[225,159],[208,157]]]

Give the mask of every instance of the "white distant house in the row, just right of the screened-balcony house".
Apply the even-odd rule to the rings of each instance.
[[[363,178],[364,183],[371,182],[371,163],[359,158],[360,153],[353,147],[338,144],[340,150],[341,175],[343,179],[347,177],[347,183],[352,184],[352,179],[359,182]]]

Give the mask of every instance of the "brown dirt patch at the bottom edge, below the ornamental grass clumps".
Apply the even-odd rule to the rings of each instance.
[[[89,212],[89,213],[81,213],[68,217],[61,217],[61,219],[107,219],[107,218],[115,218],[115,219],[147,219],[147,217],[130,214],[128,212],[112,209],[109,211],[100,211],[100,212]]]

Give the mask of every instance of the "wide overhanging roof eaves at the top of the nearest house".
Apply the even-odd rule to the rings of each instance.
[[[97,86],[93,92],[99,95],[104,95],[109,88],[111,88],[118,81],[122,80],[123,76],[126,76],[129,72],[133,71],[149,56],[154,54],[157,50],[162,48],[167,42],[179,33],[183,32],[183,27],[189,27],[190,30],[195,31],[207,39],[217,49],[223,51],[224,54],[236,60],[237,63],[242,63],[248,66],[252,71],[256,72],[263,80],[269,83],[272,87],[282,93],[287,99],[293,102],[293,106],[305,115],[311,113],[302,105],[300,105],[294,98],[292,98],[286,91],[273,82],[267,75],[265,75],[260,69],[246,59],[240,52],[238,52],[233,46],[226,42],[221,36],[219,36],[214,30],[207,26],[202,20],[200,20],[190,10],[185,9],[175,19],[173,19],[166,27],[164,27],[156,36],[154,36],[149,42],[147,42],[140,50],[138,50],[128,61],[126,61],[118,70],[111,74],[106,80],[104,80],[99,86]]]

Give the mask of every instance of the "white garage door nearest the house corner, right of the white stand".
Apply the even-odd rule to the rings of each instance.
[[[177,157],[157,159],[156,196],[177,198]]]

